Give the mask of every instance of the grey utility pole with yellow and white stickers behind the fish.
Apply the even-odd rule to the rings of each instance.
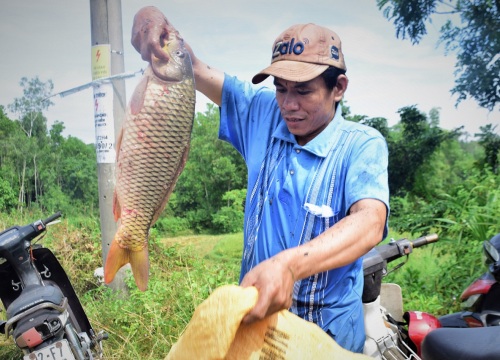
[[[92,80],[124,72],[122,8],[120,0],[90,0]],[[117,224],[113,216],[115,185],[115,139],[121,129],[126,108],[123,79],[94,87],[97,172],[103,264],[105,264]],[[124,269],[110,284],[125,289]]]

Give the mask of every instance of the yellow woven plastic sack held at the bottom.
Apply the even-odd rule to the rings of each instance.
[[[257,302],[257,289],[225,285],[195,310],[166,360],[371,359],[345,350],[319,326],[282,310],[241,324]]]

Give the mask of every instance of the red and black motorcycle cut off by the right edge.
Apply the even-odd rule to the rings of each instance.
[[[500,234],[484,241],[483,262],[488,270],[460,295],[463,311],[441,316],[442,327],[475,328],[500,325]]]

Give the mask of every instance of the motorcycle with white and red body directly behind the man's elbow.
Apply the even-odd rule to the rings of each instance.
[[[363,353],[375,359],[420,360],[425,335],[440,327],[436,317],[421,312],[403,312],[401,287],[382,283],[389,272],[388,263],[408,257],[413,249],[434,243],[436,234],[415,240],[391,239],[378,245],[363,257],[363,310],[366,340]],[[398,264],[395,271],[406,262]]]

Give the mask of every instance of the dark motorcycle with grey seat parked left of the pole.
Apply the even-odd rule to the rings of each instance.
[[[96,334],[54,254],[32,244],[58,212],[0,233],[0,299],[6,320],[0,331],[12,337],[23,360],[102,358],[105,332]]]

